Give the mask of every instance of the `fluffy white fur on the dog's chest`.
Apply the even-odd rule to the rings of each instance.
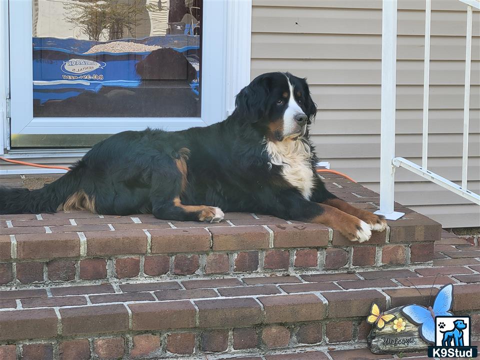
[[[265,149],[271,163],[282,166],[284,179],[309,199],[313,189],[310,146],[300,139],[285,139],[266,141]]]

